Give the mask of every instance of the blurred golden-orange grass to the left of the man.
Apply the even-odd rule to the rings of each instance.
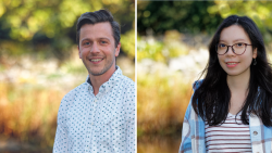
[[[64,92],[32,85],[0,84],[0,132],[40,148],[52,146]]]

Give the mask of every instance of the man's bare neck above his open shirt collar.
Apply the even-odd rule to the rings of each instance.
[[[89,79],[90,79],[95,95],[98,94],[100,86],[104,84],[106,81],[108,81],[115,71],[116,68],[114,66],[114,68],[110,68],[108,72],[99,76],[94,76],[89,74]]]

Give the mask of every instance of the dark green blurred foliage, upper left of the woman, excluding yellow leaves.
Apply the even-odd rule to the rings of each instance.
[[[213,4],[213,1],[138,2],[137,31],[146,35],[147,29],[151,28],[156,35],[164,34],[168,29],[211,33],[222,21],[219,13],[210,14],[207,11]]]

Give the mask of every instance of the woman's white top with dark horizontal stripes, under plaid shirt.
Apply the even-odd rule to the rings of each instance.
[[[249,125],[244,125],[238,115],[227,114],[224,124],[220,126],[205,126],[207,152],[252,152]]]

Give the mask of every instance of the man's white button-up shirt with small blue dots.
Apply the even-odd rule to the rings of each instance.
[[[87,78],[62,99],[53,153],[135,152],[135,82],[116,68],[97,95]]]

